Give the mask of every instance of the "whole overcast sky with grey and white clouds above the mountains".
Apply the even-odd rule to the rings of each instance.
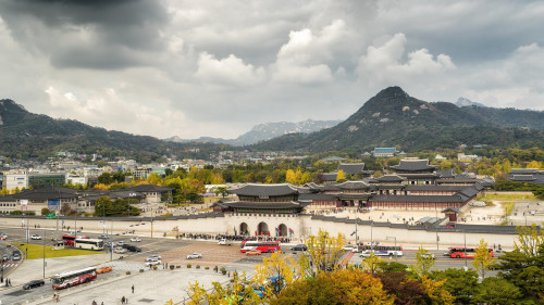
[[[159,138],[344,119],[388,86],[544,110],[542,1],[0,1],[0,98]]]

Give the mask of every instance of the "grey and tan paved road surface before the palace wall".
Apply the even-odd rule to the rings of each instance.
[[[21,228],[0,228],[0,231],[8,233],[9,242],[26,242],[25,231]],[[44,230],[32,229],[30,234],[44,232]],[[46,236],[52,232],[48,231]],[[54,233],[61,237],[61,232]],[[100,233],[83,232],[82,234],[91,238],[98,237]],[[119,242],[128,240],[128,236],[113,236],[110,241]],[[46,243],[48,242],[46,238]],[[44,241],[29,241],[32,243],[41,244]],[[50,242],[50,240],[49,240]],[[25,260],[11,275],[13,288],[0,287],[0,300],[2,304],[47,304],[51,303],[51,296],[58,292],[51,288],[49,278],[55,274],[76,270],[89,266],[112,266],[113,270],[106,275],[99,275],[96,281],[87,284],[76,285],[70,289],[60,291],[61,304],[90,304],[92,300],[98,304],[120,304],[121,297],[128,296],[131,304],[148,303],[148,304],[164,304],[172,298],[174,302],[183,302],[187,297],[187,289],[189,282],[198,281],[205,288],[210,288],[211,282],[226,282],[227,276],[223,276],[213,270],[214,266],[225,267],[228,271],[246,271],[251,276],[255,270],[255,265],[262,262],[263,257],[270,256],[245,256],[239,253],[239,246],[221,246],[215,242],[193,241],[193,240],[175,240],[163,238],[141,238],[141,242],[133,242],[141,247],[139,253],[127,253],[123,255],[101,252],[97,255],[72,256],[48,258],[46,267],[46,285],[24,291],[22,285],[33,279],[41,279],[44,277],[42,259]],[[0,247],[1,250],[2,247]],[[288,250],[289,246],[282,246],[282,251],[288,255],[299,255]],[[202,253],[202,258],[186,259],[186,255],[193,252]],[[398,257],[398,262],[412,265],[416,263],[416,250],[406,250],[403,257]],[[431,251],[437,257],[435,269],[446,268],[462,268],[463,259],[452,259],[443,256],[444,250]],[[145,267],[145,258],[151,254],[160,254],[164,263],[180,266],[174,270],[163,269],[162,266],[158,270],[150,270]],[[123,258],[121,258],[123,256]],[[360,263],[362,258],[358,255],[351,257],[350,263]],[[385,258],[390,260],[390,258]],[[394,258],[391,258],[394,260]],[[187,268],[187,264],[191,264],[191,268]],[[196,266],[201,266],[196,269]],[[467,262],[469,268],[472,268],[471,260]],[[205,269],[208,266],[209,269]],[[144,270],[140,272],[140,270]],[[131,275],[126,275],[129,271]],[[136,287],[133,294],[132,285]]]

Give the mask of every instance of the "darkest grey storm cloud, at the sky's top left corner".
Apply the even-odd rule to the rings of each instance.
[[[146,56],[131,52],[160,51],[169,21],[160,2],[145,0],[12,0],[0,3],[0,14],[14,39],[53,65],[106,69],[145,64]],[[42,26],[28,26],[35,23]]]

